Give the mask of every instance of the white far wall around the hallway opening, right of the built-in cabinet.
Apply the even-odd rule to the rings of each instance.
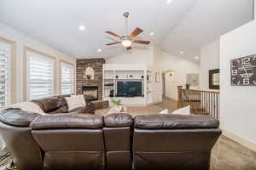
[[[174,71],[171,84],[166,83],[166,97],[177,100],[177,86],[183,86],[186,83],[187,74],[200,73],[200,66],[195,62],[183,59],[163,52],[161,55],[161,71]],[[199,87],[191,87],[199,88]]]

